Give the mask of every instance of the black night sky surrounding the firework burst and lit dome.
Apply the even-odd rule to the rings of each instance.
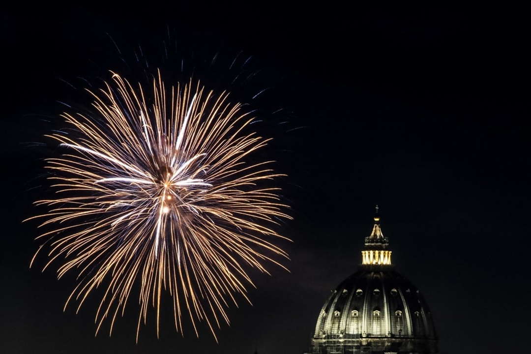
[[[443,352],[527,348],[522,10],[285,6],[146,3],[28,14],[21,5],[0,13],[0,352],[300,354],[330,290],[361,263],[376,204],[393,263],[424,292]],[[236,57],[251,57],[259,70],[251,83],[228,84]],[[135,77],[144,58],[149,70],[193,72],[249,100],[274,139],[268,153],[288,175],[279,184],[294,220],[279,231],[293,243],[279,245],[290,272],[273,264],[271,276],[250,270],[253,305],[239,298],[218,343],[206,325],[199,338],[189,327],[176,333],[170,303],[160,339],[151,316],[135,344],[134,304],[110,338],[105,330],[95,338],[97,295],[77,315],[75,306],[63,312],[74,277],[57,281],[53,265],[29,268],[38,225],[22,220],[38,212],[32,202],[47,188],[42,158],[55,152],[38,143],[60,122],[58,102],[83,105],[89,83],[108,79],[108,70]]]

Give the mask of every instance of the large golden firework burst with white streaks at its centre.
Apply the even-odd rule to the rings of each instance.
[[[152,307],[158,333],[168,292],[177,331],[187,313],[196,335],[198,321],[215,335],[235,295],[247,299],[246,267],[267,272],[264,261],[287,257],[272,243],[282,238],[273,224],[289,218],[268,183],[279,175],[248,162],[268,140],[245,133],[253,119],[228,93],[192,81],[166,90],[159,73],[143,88],[113,74],[92,96],[96,115],[65,114],[72,129],[50,135],[64,150],[47,165],[57,197],[37,202],[50,209],[37,217],[52,229],[38,237],[45,268],[78,274],[65,308],[101,286],[96,333],[106,318],[112,333],[139,290],[138,341]]]

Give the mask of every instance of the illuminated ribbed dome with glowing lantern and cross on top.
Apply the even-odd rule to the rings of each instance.
[[[421,291],[394,270],[378,207],[358,271],[332,291],[315,326],[311,353],[437,353]]]

